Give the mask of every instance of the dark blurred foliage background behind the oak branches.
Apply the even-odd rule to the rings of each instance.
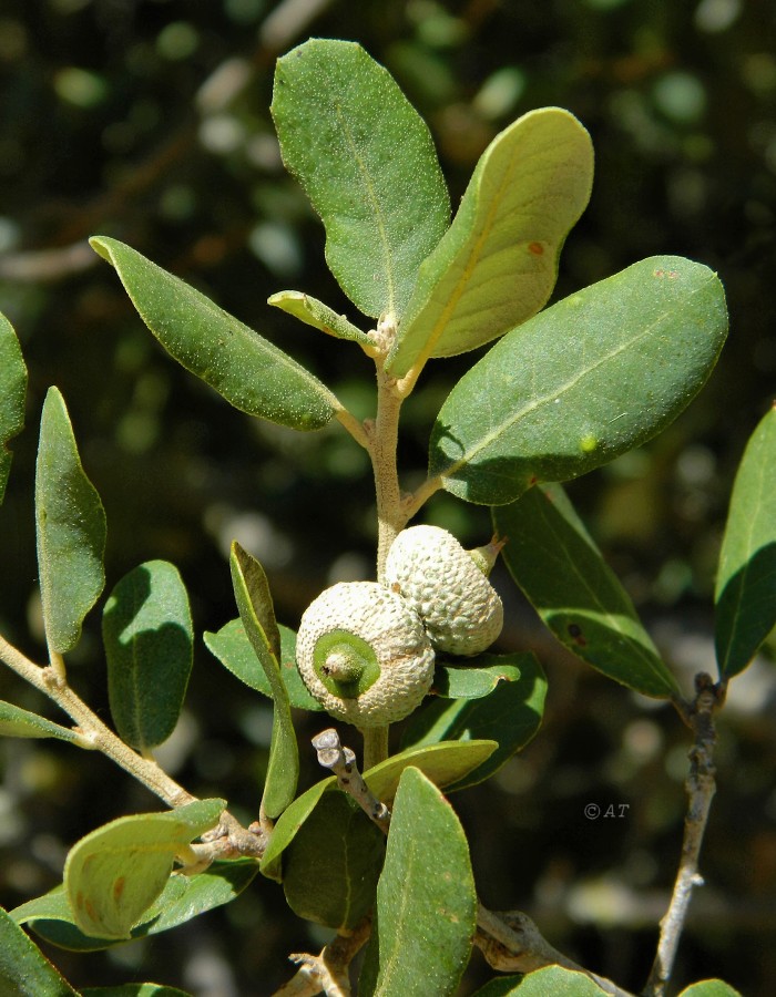
[[[264,563],[290,626],[333,580],[368,577],[368,463],[336,428],[295,434],[232,410],[175,367],[115,274],[89,249],[115,236],[210,294],[313,369],[359,415],[370,363],[270,309],[308,291],[353,320],[323,263],[323,229],[285,173],[268,113],[275,58],[308,35],[361,42],[427,117],[453,205],[492,136],[533,107],[590,130],[596,179],[561,260],[557,297],[655,253],[717,269],[731,338],[703,394],[662,436],[572,495],[690,691],[714,669],[711,597],[726,503],[748,434],[776,394],[776,8],[769,0],[3,0],[0,7],[0,308],[30,369],[28,430],[0,512],[0,629],[42,659],[32,482],[37,422],[55,383],[108,512],[109,587],[144,559],[181,569],[198,630],[235,616],[225,552]],[[431,420],[471,357],[433,361],[406,405],[400,462],[419,481]],[[423,517],[463,541],[484,510],[440,495]],[[673,882],[685,731],[544,636],[503,574],[502,649],[533,647],[550,676],[544,728],[491,783],[456,798],[479,888],[531,913],[550,941],[637,989]],[[105,716],[99,615],[71,661]],[[0,698],[53,716],[0,672]],[[55,717],[55,719],[60,719]],[[676,983],[719,975],[747,995],[776,978],[776,685],[759,659],[719,719],[718,793]],[[318,777],[304,744],[304,785]],[[160,753],[192,792],[249,821],[266,705],[200,644],[190,709]],[[309,754],[312,754],[312,750]],[[0,903],[53,886],[67,847],[155,802],[102,759],[0,744]],[[585,820],[586,802],[627,804]],[[274,883],[105,955],[51,957],[80,987],[131,979],[202,997],[261,997],[289,952],[323,944]],[[476,957],[467,977],[488,978]]]

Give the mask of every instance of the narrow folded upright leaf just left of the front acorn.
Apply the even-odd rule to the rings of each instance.
[[[272,741],[262,808],[268,818],[275,819],[294,799],[299,779],[296,732],[288,693],[280,676],[280,633],[262,565],[234,543],[229,569],[239,617],[269,682],[273,698]]]

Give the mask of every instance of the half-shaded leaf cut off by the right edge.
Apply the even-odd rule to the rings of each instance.
[[[776,408],[755,429],[736,474],[715,602],[725,679],[746,668],[776,625]]]

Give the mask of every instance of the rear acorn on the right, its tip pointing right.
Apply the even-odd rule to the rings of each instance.
[[[386,584],[416,609],[437,650],[477,655],[503,627],[503,606],[488,573],[503,546],[466,551],[439,526],[410,526],[391,544]]]

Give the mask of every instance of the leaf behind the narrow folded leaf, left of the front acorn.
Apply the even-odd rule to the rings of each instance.
[[[296,667],[296,634],[288,627],[279,626],[278,629],[280,631],[280,678],[288,693],[288,701],[299,710],[319,712],[323,707],[307,691],[307,686],[303,682]],[[216,634],[206,631],[204,641],[207,649],[242,682],[272,699],[269,679],[259,665],[242,619],[231,619]]]

